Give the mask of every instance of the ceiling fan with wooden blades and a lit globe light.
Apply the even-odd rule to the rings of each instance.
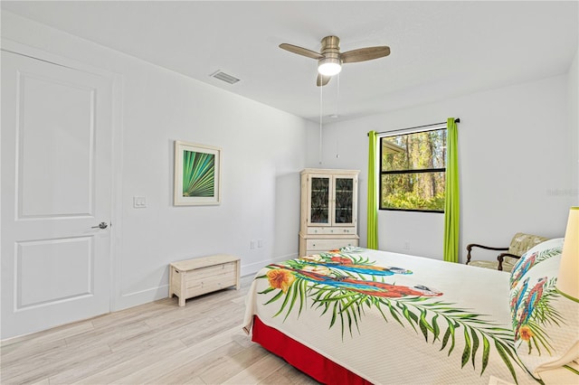
[[[318,60],[318,80],[316,81],[318,87],[325,86],[332,76],[342,70],[342,64],[371,61],[390,54],[390,47],[386,45],[358,48],[357,50],[341,53],[340,39],[337,36],[326,36],[323,38],[322,48],[319,53],[285,42],[280,44],[280,48]]]

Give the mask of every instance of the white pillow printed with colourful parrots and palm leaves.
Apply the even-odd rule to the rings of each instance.
[[[555,287],[562,249],[562,238],[529,249],[510,276],[515,348],[535,375],[579,358],[579,303]]]

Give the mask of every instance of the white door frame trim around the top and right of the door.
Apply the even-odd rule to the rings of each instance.
[[[100,77],[106,78],[111,83],[111,143],[110,146],[110,164],[112,173],[110,175],[110,245],[109,245],[109,312],[117,310],[118,298],[120,292],[120,260],[117,258],[120,253],[121,239],[121,221],[122,221],[122,117],[123,117],[123,75],[109,70],[92,66],[82,61],[70,59],[52,52],[46,52],[21,42],[1,38],[0,50],[12,52],[14,54],[30,57],[35,60],[47,61],[55,65],[67,67],[73,70],[82,70],[90,72]],[[0,239],[2,241],[2,239]],[[79,320],[81,321],[81,320]]]

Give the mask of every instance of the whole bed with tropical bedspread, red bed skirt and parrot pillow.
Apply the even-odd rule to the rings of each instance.
[[[243,329],[322,383],[579,383],[562,246],[511,274],[359,248],[290,259],[257,273]]]

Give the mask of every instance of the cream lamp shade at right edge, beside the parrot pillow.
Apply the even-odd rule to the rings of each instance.
[[[579,301],[579,207],[569,211],[556,287],[565,296]]]

